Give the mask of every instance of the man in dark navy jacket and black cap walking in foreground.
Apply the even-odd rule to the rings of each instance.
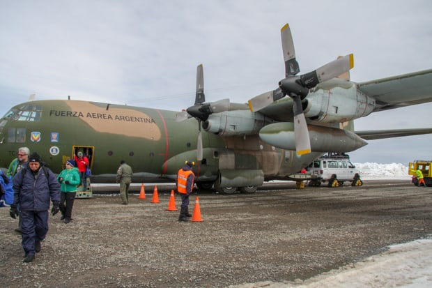
[[[28,167],[13,177],[14,198],[10,205],[10,217],[18,215],[20,205],[22,248],[26,253],[23,262],[32,262],[35,252],[40,252],[40,241],[48,233],[49,201],[52,215],[59,212],[60,184],[54,173],[43,167],[38,153],[29,157]]]

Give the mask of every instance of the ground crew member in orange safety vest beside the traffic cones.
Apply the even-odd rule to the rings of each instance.
[[[183,166],[177,173],[176,186],[177,191],[181,196],[181,209],[178,221],[189,221],[187,217],[192,217],[189,213],[189,195],[192,193],[194,188],[195,174],[192,172],[192,166],[195,162],[186,161],[185,166]]]

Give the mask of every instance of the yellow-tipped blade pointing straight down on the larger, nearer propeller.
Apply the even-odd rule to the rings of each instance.
[[[297,155],[311,153],[311,140],[309,139],[309,131],[307,130],[300,96],[293,97],[293,101],[295,151],[297,151]]]

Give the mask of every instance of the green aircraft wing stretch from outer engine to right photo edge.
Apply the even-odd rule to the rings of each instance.
[[[376,99],[373,112],[432,101],[432,69],[358,83],[367,96]]]

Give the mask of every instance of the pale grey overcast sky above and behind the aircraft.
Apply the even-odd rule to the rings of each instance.
[[[36,99],[180,111],[203,63],[206,100],[245,103],[284,77],[280,29],[302,73],[354,54],[351,79],[432,68],[432,1],[0,0],[0,114]],[[432,126],[432,104],[372,114],[357,130]],[[432,135],[373,140],[353,162],[432,159]]]

